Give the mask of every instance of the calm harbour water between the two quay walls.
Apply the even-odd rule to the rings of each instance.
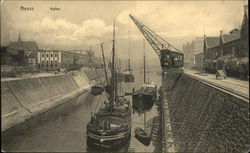
[[[121,83],[122,91],[131,92],[142,84],[142,73],[134,73],[134,83]],[[147,74],[148,80],[161,85],[161,76],[155,71]],[[87,152],[86,125],[91,113],[102,105],[105,95],[92,96],[85,93],[68,101],[66,104],[47,111],[7,132],[2,133],[2,151],[12,152]],[[131,97],[128,96],[131,100]],[[146,113],[147,120],[158,115],[154,105]],[[140,143],[134,137],[136,127],[144,127],[144,115],[132,114],[131,139],[119,152],[153,152],[155,145]]]

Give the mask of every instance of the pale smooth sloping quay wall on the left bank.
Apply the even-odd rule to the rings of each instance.
[[[1,131],[88,92],[96,77],[93,70],[84,69],[54,76],[1,81]]]

